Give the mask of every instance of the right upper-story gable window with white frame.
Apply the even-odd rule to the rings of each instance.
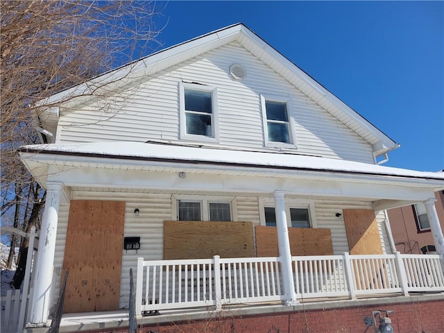
[[[290,100],[261,95],[265,146],[296,148],[294,121],[290,117]]]

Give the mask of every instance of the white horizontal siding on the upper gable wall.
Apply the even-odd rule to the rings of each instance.
[[[246,67],[245,80],[230,77],[233,63]],[[255,58],[237,42],[161,71],[121,94],[128,103],[92,103],[61,111],[56,142],[162,140],[180,142],[178,83],[217,88],[219,144],[239,149],[264,147],[260,95],[285,95],[291,104],[297,153],[374,163],[370,144]],[[204,142],[205,144],[205,142]]]

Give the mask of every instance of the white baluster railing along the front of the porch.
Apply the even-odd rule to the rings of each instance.
[[[292,257],[298,299],[444,291],[438,255]],[[284,300],[279,257],[137,262],[136,313]]]

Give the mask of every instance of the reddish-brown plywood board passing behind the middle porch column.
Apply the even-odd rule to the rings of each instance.
[[[257,257],[278,257],[276,227],[256,225]],[[332,233],[323,228],[289,228],[291,255],[332,255]]]

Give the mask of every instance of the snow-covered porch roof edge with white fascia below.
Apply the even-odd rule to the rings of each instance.
[[[26,147],[33,151],[26,152]],[[221,151],[178,146],[163,146],[135,142],[112,142],[108,144],[69,144],[25,146],[20,155],[22,160],[33,160],[39,164],[81,165],[98,164],[118,169],[164,168],[206,173],[254,173],[264,177],[305,178],[335,180],[355,183],[378,182],[401,186],[444,189],[444,174],[411,171],[382,167],[322,157],[295,156],[273,153],[243,151]],[[115,151],[123,149],[123,154]],[[45,152],[46,151],[46,152]],[[148,153],[140,153],[148,152]],[[325,167],[325,165],[328,167]],[[31,165],[29,166],[31,167]]]

